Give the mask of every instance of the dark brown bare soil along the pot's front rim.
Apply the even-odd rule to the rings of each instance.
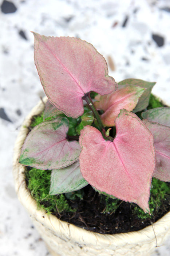
[[[77,212],[56,214],[56,217],[86,230],[102,234],[116,234],[143,229],[170,210],[169,197],[163,202],[163,207],[159,208],[157,215],[144,220],[137,216],[135,217],[133,214],[136,204],[124,201],[121,201],[119,208],[115,212],[103,214],[106,204],[99,193],[92,189],[90,185],[84,188],[84,192],[83,200],[70,200],[70,206],[79,209]]]

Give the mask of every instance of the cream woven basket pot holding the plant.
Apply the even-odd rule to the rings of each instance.
[[[37,209],[36,201],[25,184],[25,166],[18,163],[21,147],[28,134],[31,118],[44,110],[43,102],[39,102],[25,119],[15,143],[13,159],[13,176],[15,189],[20,202],[28,211],[33,225],[45,241],[53,256],[107,256],[107,255],[150,255],[155,246],[165,244],[170,236],[170,212],[156,223],[142,230],[120,233],[99,234],[84,230],[54,215],[47,215]]]

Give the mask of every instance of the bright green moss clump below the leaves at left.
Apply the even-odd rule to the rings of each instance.
[[[28,182],[28,189],[31,191],[31,195],[36,200],[39,208],[43,208],[48,214],[75,211],[69,206],[63,194],[49,195],[51,170],[32,168],[25,173],[25,176]]]

